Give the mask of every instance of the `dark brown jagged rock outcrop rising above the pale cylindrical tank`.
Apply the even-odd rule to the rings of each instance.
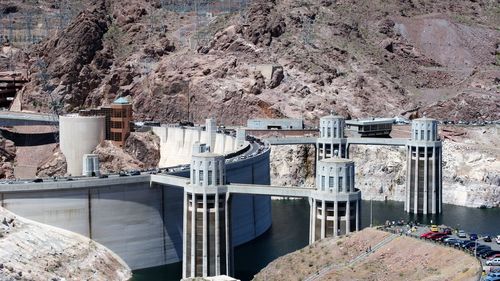
[[[62,101],[66,111],[85,103],[101,82],[99,72],[110,66],[108,50],[103,50],[108,24],[105,1],[96,0],[57,37],[35,48],[31,71],[36,74],[24,90],[25,109],[34,101],[47,106],[49,93]]]

